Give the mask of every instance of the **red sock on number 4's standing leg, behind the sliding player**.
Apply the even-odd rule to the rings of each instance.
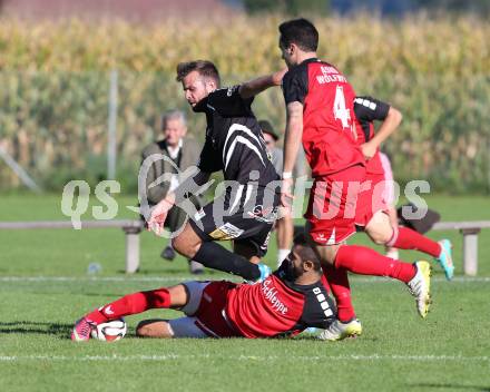
[[[351,301],[351,286],[349,285],[347,272],[344,268],[335,268],[331,265],[322,265],[323,274],[326,275],[330,288],[337,307],[337,318],[347,322],[355,317]]]

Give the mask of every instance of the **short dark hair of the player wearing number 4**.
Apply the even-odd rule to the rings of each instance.
[[[318,31],[307,19],[287,20],[280,24],[280,32],[283,48],[291,43],[296,43],[304,51],[316,51],[318,48]]]

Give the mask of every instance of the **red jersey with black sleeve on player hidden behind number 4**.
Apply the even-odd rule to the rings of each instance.
[[[354,114],[357,118],[362,134],[357,138],[359,145],[371,140],[374,136],[374,120],[384,120],[390,111],[390,105],[371,98],[356,97],[354,99]],[[383,174],[383,165],[381,164],[380,150],[366,163],[366,173]]]

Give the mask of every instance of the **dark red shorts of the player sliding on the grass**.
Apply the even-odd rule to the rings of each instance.
[[[236,284],[226,281],[210,282],[203,291],[199,307],[194,314],[196,325],[215,337],[242,336],[227,320],[225,308],[228,291]]]

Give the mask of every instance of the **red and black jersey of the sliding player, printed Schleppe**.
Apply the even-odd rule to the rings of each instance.
[[[286,276],[285,263],[261,284],[228,290],[226,316],[245,337],[294,335],[308,326],[326,329],[335,307],[323,280],[296,285]]]

